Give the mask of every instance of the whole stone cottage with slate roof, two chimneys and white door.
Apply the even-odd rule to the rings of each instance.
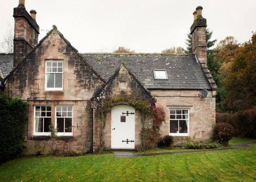
[[[38,42],[36,11],[29,14],[19,0],[14,53],[0,54],[0,86],[29,103],[26,153],[49,151],[50,125],[61,152],[138,148],[142,123],[134,101],[163,107],[160,133],[175,144],[209,140],[217,87],[207,69],[202,9],[190,27],[193,54],[79,53],[56,26]]]

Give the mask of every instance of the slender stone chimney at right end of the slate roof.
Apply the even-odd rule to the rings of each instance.
[[[192,36],[192,51],[197,56],[197,59],[203,66],[207,65],[207,46],[206,46],[206,19],[202,16],[202,6],[198,6],[193,12],[194,22],[190,27]]]

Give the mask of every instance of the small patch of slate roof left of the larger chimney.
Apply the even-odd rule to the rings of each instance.
[[[0,53],[0,73],[2,72],[4,78],[13,69],[13,54]]]

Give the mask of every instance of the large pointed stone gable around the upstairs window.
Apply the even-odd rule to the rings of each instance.
[[[58,95],[46,94],[46,62],[63,63],[62,89]],[[20,61],[5,78],[12,95],[40,99],[86,99],[105,81],[92,69],[56,26]]]

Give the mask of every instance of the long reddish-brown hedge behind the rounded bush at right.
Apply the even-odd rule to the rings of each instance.
[[[234,135],[256,138],[256,109],[246,109],[235,113],[216,113],[216,123],[229,123],[234,127]]]

